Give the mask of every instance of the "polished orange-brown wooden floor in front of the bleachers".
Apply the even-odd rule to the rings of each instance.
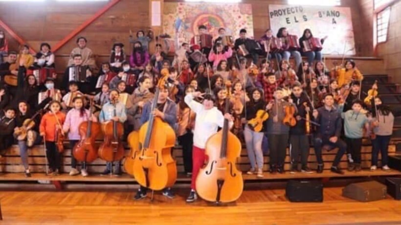
[[[270,184],[245,189],[241,198],[215,207],[198,200],[187,204],[188,189],[175,189],[173,200],[155,193],[134,201],[134,190],[99,187],[90,191],[2,191],[1,225],[400,225],[401,202],[385,200],[359,203],[341,196],[340,187],[324,189],[323,203],[290,203],[284,188]],[[263,186],[264,185],[264,186]],[[4,190],[4,189],[3,189]],[[88,187],[86,190],[89,190]],[[148,193],[148,196],[149,193]]]

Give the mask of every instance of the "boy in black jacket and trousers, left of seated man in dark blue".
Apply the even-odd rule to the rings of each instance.
[[[294,174],[296,171],[312,173],[311,169],[308,167],[309,140],[306,135],[305,121],[307,111],[311,111],[312,105],[307,94],[303,92],[302,85],[299,82],[295,82],[292,86],[291,98],[298,112],[294,114],[297,120],[296,125],[290,128],[290,174]],[[301,170],[298,168],[299,155],[301,155]]]

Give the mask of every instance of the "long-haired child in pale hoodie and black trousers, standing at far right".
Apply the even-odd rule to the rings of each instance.
[[[381,169],[389,171],[388,145],[393,134],[394,115],[390,107],[384,105],[379,97],[374,99],[376,108],[372,110],[372,127],[376,138],[372,138],[372,165],[371,170],[378,168],[378,156],[381,154]]]

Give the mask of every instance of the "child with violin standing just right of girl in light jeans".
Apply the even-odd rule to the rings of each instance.
[[[284,92],[281,88],[274,91],[274,101],[267,104],[267,139],[270,151],[270,173],[279,172],[284,174],[284,162],[287,152],[287,143],[290,132],[290,125],[284,123],[285,117],[293,115],[286,113],[287,107],[294,107],[292,99],[289,102],[284,100]],[[296,109],[294,109],[295,111]],[[292,118],[294,119],[294,118]]]

